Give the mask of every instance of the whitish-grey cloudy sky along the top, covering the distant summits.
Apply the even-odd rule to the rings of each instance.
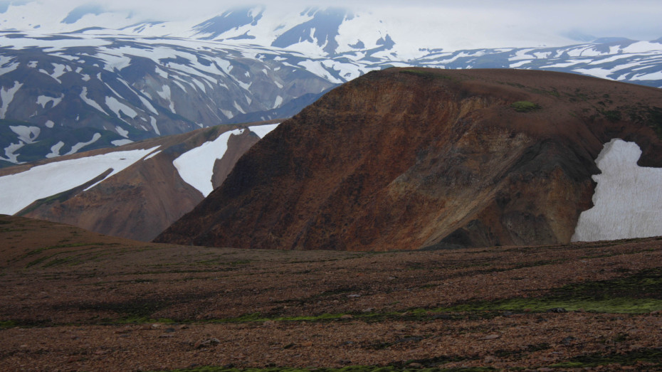
[[[80,0],[51,0],[58,3],[80,4]],[[182,18],[223,11],[233,6],[246,6],[249,2],[237,0],[113,0],[114,8],[136,9],[137,14],[153,18]],[[517,26],[519,23],[553,28],[559,33],[580,31],[594,36],[625,36],[641,40],[662,37],[662,3],[659,0],[278,0],[257,1],[256,4],[293,9],[317,4],[320,6],[345,6],[357,10],[389,7],[429,9],[421,16],[438,16],[444,21],[444,10],[463,14],[467,20],[476,14],[488,16],[494,27]],[[483,18],[483,17],[480,17]],[[483,18],[484,19],[484,18]],[[471,22],[470,22],[471,23]]]

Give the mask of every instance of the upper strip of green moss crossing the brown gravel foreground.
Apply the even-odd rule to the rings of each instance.
[[[337,314],[283,317],[259,312],[226,319],[154,319],[153,312],[164,309],[169,302],[154,299],[126,304],[98,304],[94,309],[105,309],[124,314],[120,319],[105,319],[105,324],[125,323],[263,323],[264,321],[350,321],[352,319],[378,322],[387,319],[404,321],[431,321],[490,319],[503,314],[522,312],[596,312],[608,314],[646,314],[662,310],[662,269],[643,272],[614,280],[582,282],[552,289],[542,297],[510,298],[498,301],[466,302],[451,307],[434,309],[415,308],[406,312],[352,312]]]

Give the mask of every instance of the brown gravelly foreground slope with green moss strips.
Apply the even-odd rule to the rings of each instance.
[[[2,216],[0,241],[5,371],[662,368],[656,238],[236,250]]]

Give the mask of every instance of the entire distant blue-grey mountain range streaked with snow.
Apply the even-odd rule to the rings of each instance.
[[[291,117],[392,66],[555,70],[662,87],[662,39],[445,51],[426,37],[411,51],[419,35],[345,9],[283,17],[248,7],[188,22],[51,10],[0,3],[0,166]]]

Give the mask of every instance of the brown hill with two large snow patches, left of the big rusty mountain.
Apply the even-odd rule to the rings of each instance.
[[[276,125],[221,125],[1,169],[0,213],[152,240]]]

